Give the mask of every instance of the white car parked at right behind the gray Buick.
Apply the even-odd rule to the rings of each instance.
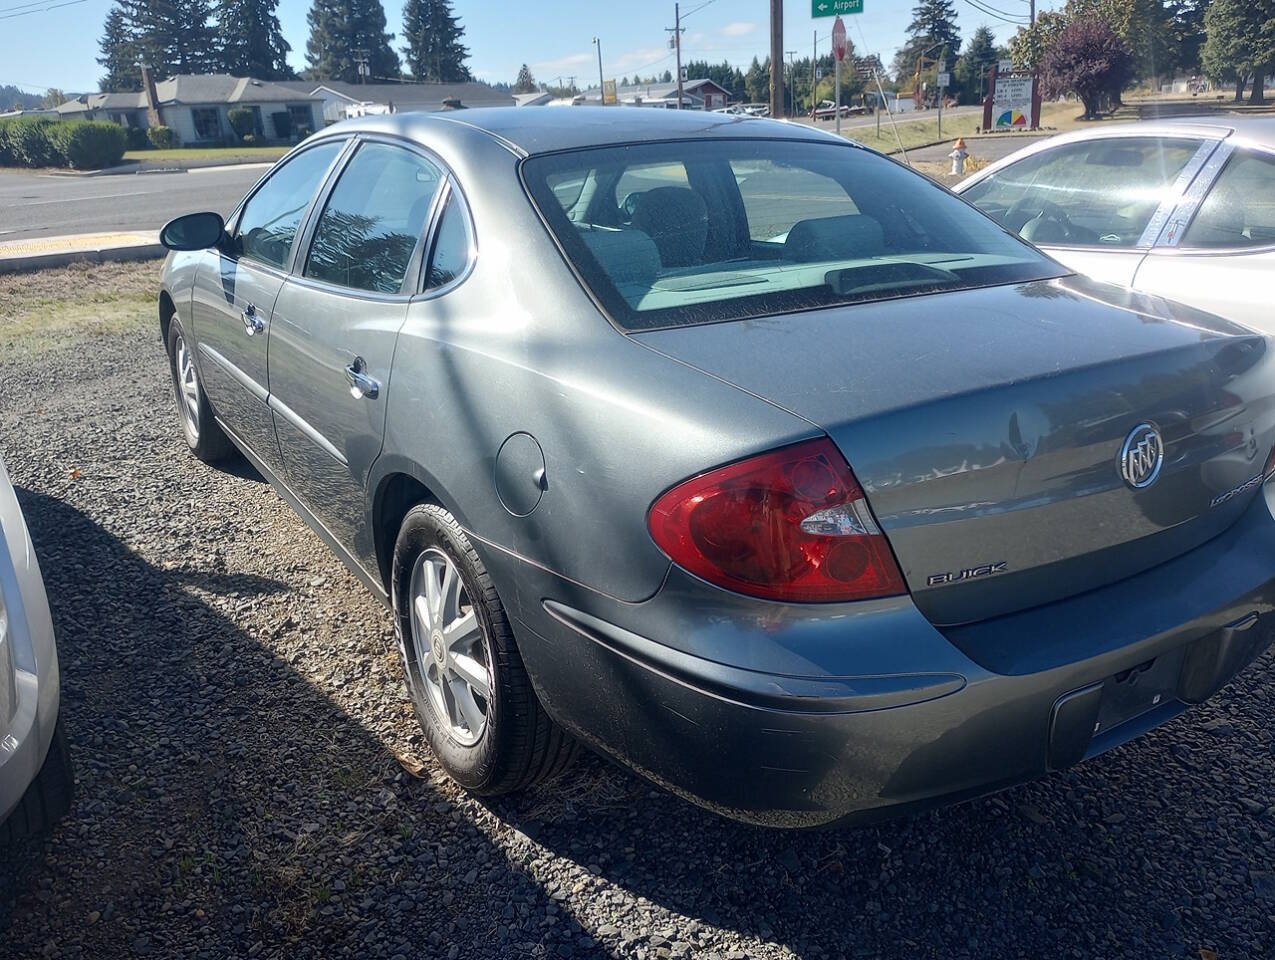
[[[1275,117],[1098,126],[954,189],[1074,270],[1275,333]]]

